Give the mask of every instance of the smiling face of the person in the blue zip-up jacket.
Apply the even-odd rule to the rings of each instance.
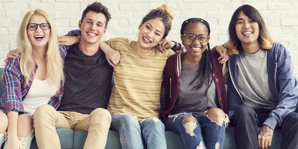
[[[259,44],[259,24],[240,11],[235,30],[242,45]]]

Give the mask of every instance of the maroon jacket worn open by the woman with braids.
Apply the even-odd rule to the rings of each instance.
[[[172,115],[172,109],[175,106],[175,102],[178,95],[179,78],[181,71],[181,63],[183,62],[183,56],[185,53],[175,54],[170,56],[165,64],[163,70],[162,86],[165,89],[165,104],[164,110],[160,111],[160,119],[165,122],[168,115]],[[224,86],[223,65],[219,63],[218,58],[220,55],[216,51],[212,51],[214,59],[214,82],[216,86],[216,92],[218,96],[219,108],[224,113],[227,113],[227,99]],[[173,65],[174,64],[174,65]]]

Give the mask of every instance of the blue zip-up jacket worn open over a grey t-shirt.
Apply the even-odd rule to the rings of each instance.
[[[229,77],[227,81],[227,99],[229,116],[234,110],[243,104],[242,94],[238,89],[237,61],[238,55],[232,55],[228,60]],[[294,112],[298,101],[298,84],[293,71],[290,53],[280,43],[274,43],[271,50],[267,52],[267,70],[270,89],[278,105],[269,114],[263,125],[271,129],[280,127],[283,119]]]

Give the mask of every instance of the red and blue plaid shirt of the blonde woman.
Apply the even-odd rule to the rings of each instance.
[[[80,30],[70,31],[67,36],[80,36]],[[64,61],[67,51],[72,46],[59,46],[60,55]],[[4,113],[9,111],[15,111],[19,113],[25,113],[22,101],[25,99],[30,87],[34,75],[36,73],[38,66],[35,64],[35,69],[30,76],[29,82],[27,85],[24,85],[24,76],[21,74],[19,67],[19,58],[11,59],[8,58],[8,62],[5,64],[3,72],[3,84],[2,84],[2,94],[0,97],[0,110]],[[53,97],[51,97],[48,102],[49,105],[53,106],[55,109],[60,105],[61,98],[63,96],[63,84],[58,92]]]

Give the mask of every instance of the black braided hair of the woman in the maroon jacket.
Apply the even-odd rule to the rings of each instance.
[[[210,25],[207,21],[205,21],[204,19],[201,18],[189,18],[187,20],[185,20],[182,25],[181,25],[181,30],[180,30],[180,34],[184,34],[184,31],[186,30],[186,28],[189,26],[189,24],[191,23],[202,23],[203,25],[206,26],[207,30],[208,30],[208,36],[210,36]],[[210,50],[210,45],[209,42],[207,44],[207,50],[205,50],[202,54],[202,61],[200,64],[200,69],[198,71],[198,75],[197,78],[199,78],[200,75],[203,75],[201,82],[199,85],[196,85],[193,89],[199,89],[203,86],[204,82],[205,82],[205,78],[208,78],[208,88],[206,90],[206,95],[208,92],[209,87],[212,84],[213,81],[213,75],[214,75],[214,60],[213,60],[213,56],[212,56],[212,52]],[[191,84],[197,79],[195,78]],[[193,90],[192,89],[192,90]]]

